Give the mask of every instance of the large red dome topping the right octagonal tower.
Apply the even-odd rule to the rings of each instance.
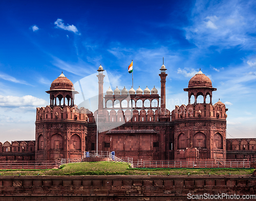
[[[188,87],[195,87],[195,86],[212,87],[210,78],[204,75],[201,69],[188,82]]]

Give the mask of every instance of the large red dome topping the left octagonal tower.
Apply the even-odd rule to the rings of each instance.
[[[56,78],[50,87],[50,90],[75,90],[73,83],[61,73],[58,78]]]

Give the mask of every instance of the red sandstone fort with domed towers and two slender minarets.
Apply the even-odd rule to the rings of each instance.
[[[256,139],[226,139],[227,108],[212,104],[211,80],[200,70],[188,82],[188,104],[165,107],[166,68],[160,69],[161,94],[139,87],[103,96],[104,74],[98,69],[98,110],[75,105],[73,83],[63,75],[47,91],[50,105],[36,108],[35,141],[0,143],[1,161],[81,158],[86,151],[115,151],[134,160],[250,159]],[[114,93],[114,95],[113,95]],[[203,103],[198,103],[203,96]],[[193,100],[193,101],[192,101]],[[209,102],[207,102],[209,100]],[[96,124],[98,122],[98,124]],[[98,125],[98,129],[97,129]],[[97,143],[98,132],[98,143]]]

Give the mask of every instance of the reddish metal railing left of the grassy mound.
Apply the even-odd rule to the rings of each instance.
[[[0,169],[52,169],[59,164],[60,161],[1,161]]]

